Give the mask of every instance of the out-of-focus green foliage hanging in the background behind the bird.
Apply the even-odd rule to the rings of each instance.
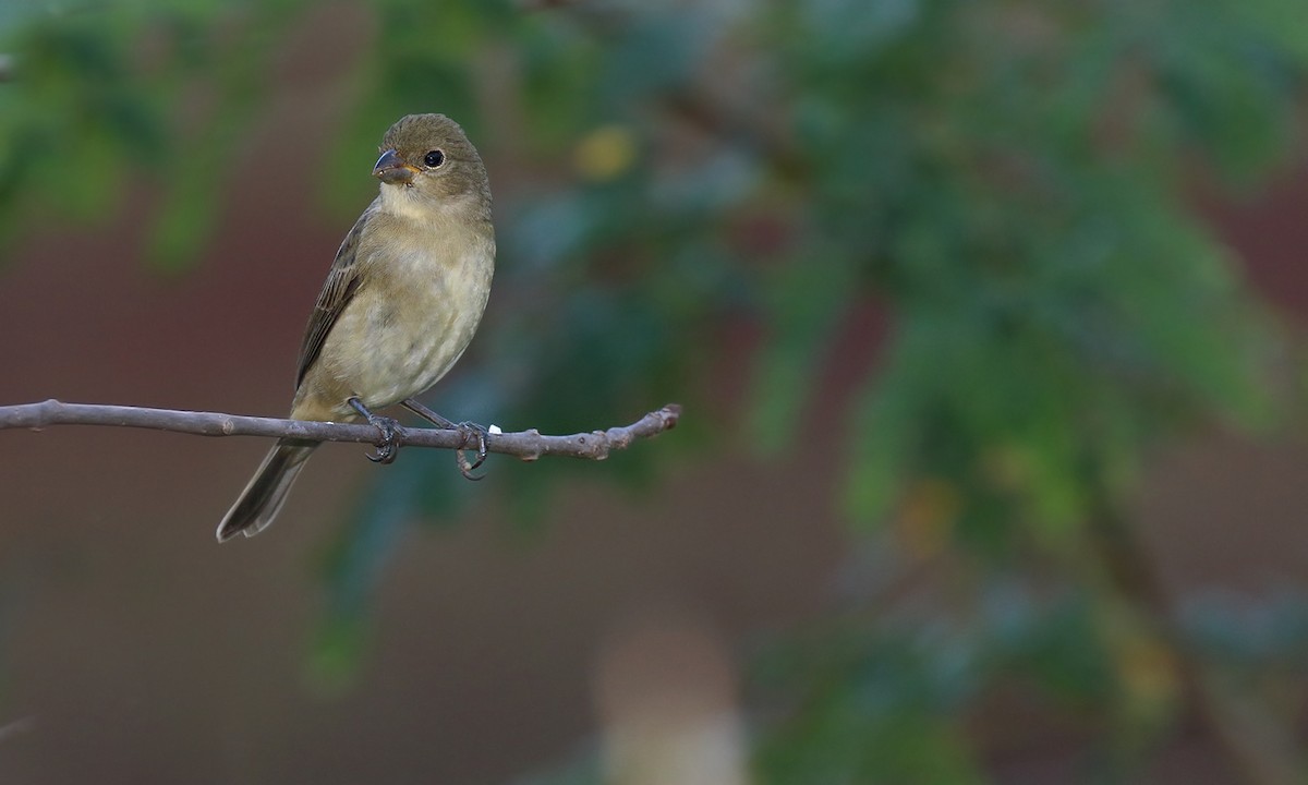
[[[0,16],[0,245],[56,208],[105,220],[146,178],[169,190],[154,263],[184,270],[309,8]],[[385,34],[360,43],[336,207],[357,209],[358,150],[407,111],[456,116],[521,166],[500,191],[497,309],[454,382],[475,394],[445,395],[477,402],[460,416],[570,430],[681,400],[676,440],[587,467],[650,478],[672,450],[732,441],[700,412],[747,412],[726,425],[776,453],[810,429],[824,369],[872,369],[820,416],[846,457],[836,506],[961,577],[950,612],[893,619],[855,597],[761,669],[787,706],[759,734],[763,781],[985,781],[969,720],[1014,688],[1093,739],[1112,761],[1096,776],[1143,760],[1177,721],[1177,659],[1226,638],[1184,642],[1093,543],[1160,440],[1277,416],[1275,326],[1186,194],[1256,186],[1301,140],[1301,0],[500,0],[442,4],[438,39],[413,22],[429,4],[369,8]],[[889,335],[841,340],[869,306]],[[723,402],[718,338],[742,324],[753,378]],[[330,683],[408,510],[459,498],[432,484],[454,472],[424,471],[437,458],[383,472],[323,561]],[[496,471],[543,508],[573,470]]]

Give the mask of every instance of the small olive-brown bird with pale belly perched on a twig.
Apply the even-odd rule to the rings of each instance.
[[[366,419],[395,455],[395,421],[373,412],[450,370],[477,330],[494,273],[490,186],[476,148],[438,114],[400,118],[382,140],[382,181],[345,236],[309,318],[290,417]],[[449,423],[442,420],[443,425]],[[218,525],[218,542],[254,536],[281,510],[317,442],[283,438]]]

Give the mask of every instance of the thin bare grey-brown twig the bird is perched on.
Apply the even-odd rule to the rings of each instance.
[[[611,450],[623,450],[637,438],[658,436],[674,428],[680,416],[681,407],[670,403],[630,425],[610,428],[608,430],[570,436],[545,436],[535,428],[517,433],[492,433],[487,440],[487,449],[523,461],[535,461],[542,455],[603,461]],[[266,436],[315,442],[378,444],[377,428],[371,425],[245,417],[217,412],[187,412],[136,406],[63,403],[52,398],[41,403],[0,406],[0,430],[7,428],[41,430],[51,425],[118,425],[198,436]],[[403,428],[396,441],[399,445],[413,447],[446,450],[475,447],[475,440],[473,444],[468,444],[467,437],[464,430],[458,429]]]

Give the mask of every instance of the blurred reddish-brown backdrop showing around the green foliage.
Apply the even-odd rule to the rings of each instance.
[[[4,251],[0,403],[283,412],[345,225],[323,218],[311,174],[266,173],[285,171],[279,140],[293,127],[320,130],[297,152],[320,157],[344,106],[348,63],[334,55],[349,51],[349,26],[319,20],[288,47],[232,173],[222,236],[192,272],[171,280],[140,262],[145,187],[99,230],[51,224]],[[360,156],[366,178],[371,150]],[[511,179],[493,150],[488,164],[493,182]],[[1206,208],[1291,321],[1308,310],[1305,173]],[[846,379],[828,381],[824,394],[841,395]],[[578,464],[531,542],[498,519],[492,462],[481,512],[408,535],[357,683],[322,696],[305,679],[323,606],[315,560],[365,474],[385,468],[358,446],[328,446],[273,529],[220,547],[213,527],[266,446],[0,433],[0,782],[360,782],[379,761],[394,782],[498,782],[587,739],[615,771],[637,772],[621,781],[743,781],[749,645],[828,603],[848,547],[832,506],[838,457],[814,447],[774,464],[687,466],[640,505]],[[1301,434],[1215,433],[1160,455],[1139,512],[1169,585],[1262,590],[1305,574],[1304,476]],[[630,734],[700,721],[723,739],[706,764],[722,773],[642,778],[649,752]],[[1059,755],[1019,746],[999,775],[1059,781]],[[1162,760],[1158,781],[1227,781],[1184,738]]]

